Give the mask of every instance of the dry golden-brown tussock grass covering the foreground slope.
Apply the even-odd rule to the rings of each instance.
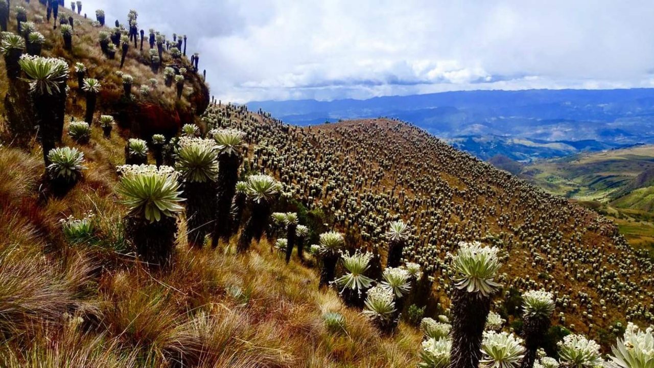
[[[419,331],[402,323],[380,337],[335,291],[317,289],[315,270],[286,265],[266,240],[249,255],[235,255],[233,242],[198,251],[180,241],[168,272],[133,262],[112,191],[123,145],[94,127],[80,147],[84,179],[64,198],[41,200],[39,150],[0,148],[0,365],[415,366]],[[67,244],[58,219],[87,211],[101,240]],[[345,331],[327,331],[324,312],[343,314]]]

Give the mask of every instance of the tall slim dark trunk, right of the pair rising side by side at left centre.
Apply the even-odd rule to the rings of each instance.
[[[216,190],[216,221],[211,237],[211,246],[216,248],[218,240],[229,240],[232,213],[232,198],[236,192],[239,173],[239,156],[223,153],[218,156],[218,181]],[[240,219],[239,219],[240,221]]]

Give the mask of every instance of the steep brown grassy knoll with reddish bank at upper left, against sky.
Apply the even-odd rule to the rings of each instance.
[[[150,56],[148,55],[150,46],[148,45],[147,31],[143,50],[140,49],[140,40],[137,47],[131,43],[125,64],[120,69],[121,51],[116,51],[116,57],[112,60],[101,52],[99,45],[99,33],[101,31],[113,31],[113,28],[99,27],[97,24],[92,24],[90,19],[85,19],[84,16],[79,16],[60,6],[59,19],[72,17],[75,23],[72,37],[73,46],[71,50],[65,50],[60,27],[53,28],[54,18],[50,22],[43,23],[37,20],[39,17],[46,18],[46,7],[44,5],[39,1],[32,1],[31,3],[20,1],[19,4],[14,5],[9,15],[9,31],[17,32],[16,7],[26,8],[27,20],[35,22],[35,30],[45,37],[41,56],[63,58],[71,67],[68,80],[68,85],[71,88],[69,93],[71,98],[67,101],[67,113],[83,117],[86,107],[84,94],[78,91],[77,77],[73,70],[73,65],[77,62],[84,64],[88,69],[86,77],[98,79],[102,85],[97,98],[97,111],[113,115],[121,126],[133,130],[132,134],[135,136],[149,137],[156,132],[163,132],[172,136],[182,124],[193,122],[209,105],[209,87],[198,73],[194,73],[188,58],[175,59],[167,50],[164,50],[160,68],[152,69]],[[165,45],[163,48],[165,49]],[[156,45],[154,49],[156,50]],[[4,70],[5,62],[3,58],[1,59],[0,65]],[[173,67],[177,71],[182,67],[187,69],[184,93],[181,99],[176,96],[175,85],[171,87],[164,86],[163,70],[165,67]],[[131,100],[124,98],[122,73],[129,74],[134,79]],[[156,80],[156,84],[152,84],[152,79]],[[20,81],[19,88],[20,84],[26,83]],[[150,86],[150,93],[142,94],[139,92],[142,85]],[[5,98],[8,90],[9,81],[3,75],[0,78],[0,95]],[[18,110],[18,114],[12,115],[12,109]],[[20,96],[14,100],[5,99],[5,103],[0,104],[0,116],[4,118],[0,120],[24,119],[21,115],[24,115],[27,111],[29,111],[28,99],[20,98]],[[13,137],[10,134],[8,135],[7,127],[1,126],[0,128],[5,128],[3,129],[3,139],[12,141]]]

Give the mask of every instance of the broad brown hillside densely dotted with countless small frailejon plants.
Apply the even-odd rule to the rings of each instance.
[[[649,290],[651,261],[611,221],[411,124],[379,119],[296,128],[242,108],[209,113],[205,121],[243,129],[260,142],[252,164],[275,173],[307,208],[328,213],[360,247],[385,249],[388,222],[408,221],[405,258],[432,272],[445,306],[449,252],[461,240],[481,240],[506,252],[500,281],[507,293],[553,291],[565,316],[560,322],[574,331],[604,334],[616,320],[651,318],[651,292],[634,296]]]

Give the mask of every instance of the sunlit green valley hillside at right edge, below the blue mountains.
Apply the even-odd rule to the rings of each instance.
[[[638,145],[525,165],[515,174],[614,219],[635,246],[654,249],[654,147]]]

